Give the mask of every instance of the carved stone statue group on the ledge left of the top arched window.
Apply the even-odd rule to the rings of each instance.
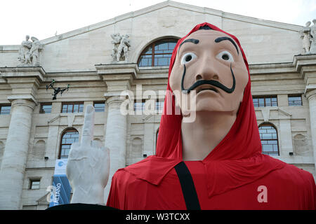
[[[127,61],[129,47],[131,47],[129,43],[129,34],[125,36],[121,36],[120,34],[111,34],[113,39],[112,43],[114,47],[112,49],[111,56],[114,61]]]

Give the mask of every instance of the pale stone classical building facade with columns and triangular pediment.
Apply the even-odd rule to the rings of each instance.
[[[316,53],[303,50],[304,27],[165,1],[39,43],[32,38],[33,52],[23,52],[25,42],[0,45],[0,208],[48,207],[55,160],[67,157],[67,138],[80,138],[89,104],[100,106],[94,139],[110,148],[110,179],[153,155],[161,114],[143,113],[144,92],[164,101],[169,66],[150,49],[201,22],[239,38],[267,152],[315,176]],[[52,99],[52,80],[69,90]],[[123,90],[136,96],[136,115],[120,113]],[[109,189],[110,180],[105,200]]]

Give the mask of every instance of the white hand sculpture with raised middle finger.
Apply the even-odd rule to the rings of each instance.
[[[110,152],[93,141],[94,113],[93,106],[86,106],[81,141],[70,149],[66,173],[73,188],[71,203],[105,204]]]

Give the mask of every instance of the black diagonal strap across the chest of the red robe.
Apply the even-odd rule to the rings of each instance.
[[[192,176],[185,162],[180,162],[174,169],[176,169],[178,174],[187,210],[201,210],[199,199],[197,198],[197,190],[195,190],[195,183],[193,183]]]

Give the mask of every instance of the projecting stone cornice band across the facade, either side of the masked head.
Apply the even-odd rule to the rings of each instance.
[[[10,77],[37,77],[39,82],[54,78],[56,81],[91,81],[91,80],[133,80],[168,78],[168,66],[160,67],[140,67],[133,64],[96,64],[96,71],[67,71],[46,73],[42,67],[0,67],[0,77],[6,80]],[[289,73],[288,78],[295,78],[296,73],[305,78],[306,73],[315,73],[316,55],[295,55],[294,62],[274,63],[274,64],[249,64],[251,78],[262,75],[277,75]],[[21,75],[21,73],[23,73]],[[291,75],[290,75],[291,73]],[[46,78],[44,78],[44,76]],[[266,78],[268,78],[265,76]],[[292,77],[293,76],[293,77]],[[271,76],[272,78],[272,76]],[[273,79],[273,78],[272,78]],[[268,80],[270,80],[268,78]],[[48,80],[46,80],[48,81]]]

